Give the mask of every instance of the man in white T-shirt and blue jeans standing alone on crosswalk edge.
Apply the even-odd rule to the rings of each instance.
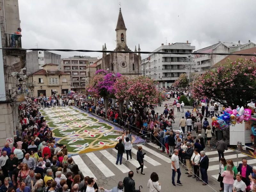
[[[174,153],[172,154],[172,164],[171,164],[171,168],[172,168],[172,186],[176,187],[176,184],[175,184],[175,175],[176,175],[176,172],[178,173],[178,178],[177,178],[177,185],[183,185],[181,182],[180,182],[180,176],[181,176],[181,172],[180,172],[180,164],[179,164],[179,150],[178,149],[174,149]]]

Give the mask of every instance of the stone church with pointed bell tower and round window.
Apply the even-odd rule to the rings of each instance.
[[[126,43],[126,30],[121,8],[119,10],[116,25],[116,49],[114,51],[131,51]],[[102,51],[107,51],[106,44],[102,46]],[[135,52],[136,46],[135,46]],[[140,52],[140,44],[138,46]],[[103,53],[102,69],[112,72],[121,73],[127,77],[138,77],[141,75],[141,56],[140,53]]]

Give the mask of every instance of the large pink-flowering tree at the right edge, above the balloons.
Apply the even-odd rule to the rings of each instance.
[[[225,107],[247,106],[256,100],[256,57],[228,61],[206,71],[192,83],[193,98],[212,98]]]

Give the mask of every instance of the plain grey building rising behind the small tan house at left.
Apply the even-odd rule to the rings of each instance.
[[[60,68],[60,62],[61,58],[58,54],[49,51],[31,51],[27,52],[26,67],[23,68],[23,71],[26,72],[26,75],[29,75],[43,69],[43,66],[48,63],[55,63],[59,70],[63,70],[63,68]]]

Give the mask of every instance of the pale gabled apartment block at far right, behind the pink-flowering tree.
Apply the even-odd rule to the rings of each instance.
[[[246,49],[250,49],[256,47],[256,44],[252,43],[250,40],[246,44],[241,44],[238,41],[238,44],[228,43],[228,42],[218,42],[217,44],[213,44],[211,46],[205,47],[203,49],[199,49],[196,52],[200,53],[233,53],[237,51],[242,51]],[[209,70],[224,59],[227,55],[195,55],[194,56],[194,73],[203,74],[206,70]]]

